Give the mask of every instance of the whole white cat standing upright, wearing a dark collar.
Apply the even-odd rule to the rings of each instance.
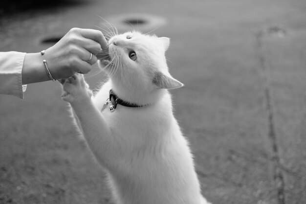
[[[168,89],[183,84],[168,72],[168,46],[165,37],[116,35],[109,40],[110,62],[100,62],[110,79],[94,97],[83,75],[63,81],[62,98],[106,169],[118,204],[208,204],[172,112]]]

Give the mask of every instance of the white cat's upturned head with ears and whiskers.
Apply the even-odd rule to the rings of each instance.
[[[170,39],[127,32],[109,39],[110,62],[103,64],[117,86],[129,90],[154,91],[183,86],[168,71],[165,52]]]

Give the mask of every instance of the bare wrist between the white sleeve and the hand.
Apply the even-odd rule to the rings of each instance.
[[[22,84],[50,80],[45,71],[43,60],[44,56],[41,53],[25,54],[22,67]]]

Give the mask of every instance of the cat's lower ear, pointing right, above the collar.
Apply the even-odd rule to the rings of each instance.
[[[184,86],[184,84],[180,83],[172,76],[168,76],[161,71],[155,72],[153,84],[155,84],[158,89],[177,89]]]

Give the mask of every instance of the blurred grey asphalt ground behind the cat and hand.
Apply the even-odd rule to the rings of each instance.
[[[171,92],[203,195],[305,204],[305,11],[304,0],[92,0],[1,18],[0,51],[39,52],[72,27],[106,21],[120,32],[156,28],[185,84]],[[105,77],[96,73],[86,75],[93,89]],[[0,204],[111,203],[60,95],[56,82],[28,85],[24,100],[0,95]]]

